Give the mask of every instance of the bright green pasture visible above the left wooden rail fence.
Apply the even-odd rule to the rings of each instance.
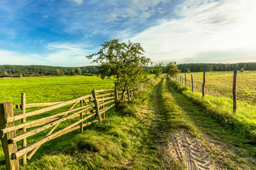
[[[0,80],[0,87],[0,102],[12,101],[16,105],[21,102],[22,92],[26,92],[26,103],[68,101],[91,94],[93,88],[114,88],[114,83],[97,76],[53,76]]]

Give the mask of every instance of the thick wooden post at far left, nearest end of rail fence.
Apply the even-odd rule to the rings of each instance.
[[[14,122],[6,124],[5,118],[13,117],[13,103],[5,102],[0,103],[0,129],[5,129],[14,126]],[[5,135],[1,134],[1,142],[3,152],[5,154],[6,169],[19,169],[19,159],[11,159],[11,154],[18,151],[16,143],[8,143],[8,140],[16,137],[16,131],[10,131]]]

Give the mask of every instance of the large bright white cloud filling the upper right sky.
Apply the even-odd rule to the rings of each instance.
[[[185,1],[174,10],[180,19],[162,20],[158,26],[130,40],[141,42],[147,57],[153,61],[183,62],[184,58],[217,51],[253,52],[256,49],[255,8],[253,0],[246,3],[242,0]]]

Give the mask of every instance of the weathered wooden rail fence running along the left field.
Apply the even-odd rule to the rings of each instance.
[[[19,159],[26,165],[40,146],[44,143],[67,134],[71,131],[80,129],[83,131],[85,126],[101,122],[105,118],[105,112],[114,107],[119,100],[119,94],[126,100],[131,100],[136,92],[150,83],[152,78],[140,84],[136,90],[119,91],[115,86],[113,89],[96,90],[92,94],[81,96],[69,101],[52,103],[26,103],[26,94],[21,95],[21,104],[16,105],[20,111],[13,111],[13,103],[0,103],[0,133],[5,160],[0,161],[0,165],[6,164],[6,169],[19,169]],[[26,112],[28,108],[39,108]],[[43,108],[42,108],[43,107]],[[65,109],[65,111],[63,111]],[[44,116],[48,114],[49,116]],[[30,121],[27,122],[27,118]],[[62,129],[58,126],[73,120]],[[85,122],[85,121],[89,122]],[[48,130],[48,133],[39,141],[27,145],[27,139],[32,135]],[[54,133],[53,133],[54,132]],[[22,147],[17,148],[16,142],[22,141]]]

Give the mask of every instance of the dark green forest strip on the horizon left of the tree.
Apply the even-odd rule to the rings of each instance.
[[[98,66],[84,67],[59,67],[42,65],[0,65],[0,77],[2,76],[44,76],[44,75],[94,75]]]

